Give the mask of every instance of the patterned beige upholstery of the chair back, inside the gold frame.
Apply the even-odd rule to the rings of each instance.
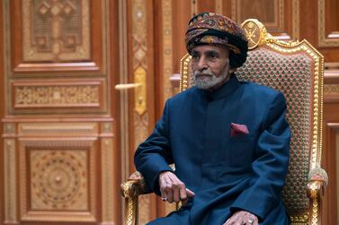
[[[257,82],[281,91],[287,100],[287,120],[291,129],[290,168],[283,190],[290,213],[305,212],[308,197],[310,102],[312,100],[311,59],[306,55],[286,56],[267,48],[249,52],[244,66],[236,71],[241,81]]]

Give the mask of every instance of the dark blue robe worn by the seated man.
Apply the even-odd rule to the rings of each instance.
[[[160,195],[158,175],[172,169],[195,193],[179,211],[149,224],[221,225],[236,211],[262,225],[290,224],[281,201],[289,164],[290,127],[281,92],[232,75],[216,91],[192,87],[165,103],[156,128],[135,154],[147,186]],[[230,124],[249,134],[230,134]]]

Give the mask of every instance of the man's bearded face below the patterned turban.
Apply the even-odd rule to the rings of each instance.
[[[212,45],[192,49],[193,82],[201,89],[216,89],[229,79],[229,50]]]

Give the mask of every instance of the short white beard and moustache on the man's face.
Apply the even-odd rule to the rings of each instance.
[[[219,76],[216,76],[210,69],[202,72],[195,71],[192,76],[192,82],[195,86],[200,89],[210,89],[220,82],[224,82],[228,77],[229,64],[227,64],[225,70]],[[198,74],[206,74],[209,76],[198,76]]]

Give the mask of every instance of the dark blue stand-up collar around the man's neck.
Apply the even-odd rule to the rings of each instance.
[[[201,94],[201,97],[206,98],[206,100],[219,100],[222,98],[227,97],[227,95],[231,94],[233,91],[236,91],[236,89],[240,86],[240,82],[237,80],[235,74],[231,74],[231,77],[229,78],[228,82],[225,82],[222,86],[220,86],[216,90],[204,90],[199,89],[199,93]]]

